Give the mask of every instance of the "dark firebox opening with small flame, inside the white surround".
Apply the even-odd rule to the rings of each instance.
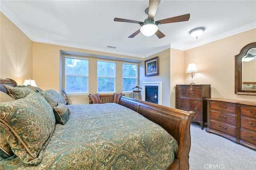
[[[158,86],[145,86],[145,101],[158,104]]]

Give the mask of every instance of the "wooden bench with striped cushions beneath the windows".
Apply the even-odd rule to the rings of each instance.
[[[90,104],[118,103],[122,93],[88,95]]]

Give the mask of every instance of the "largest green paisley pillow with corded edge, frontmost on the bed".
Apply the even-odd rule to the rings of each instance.
[[[25,164],[39,164],[55,126],[48,102],[32,91],[23,99],[0,103],[0,121],[12,152]]]

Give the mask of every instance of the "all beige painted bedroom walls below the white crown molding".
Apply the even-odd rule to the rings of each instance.
[[[60,92],[62,88],[60,82],[60,59],[61,50],[64,50],[91,54],[92,63],[96,61],[95,55],[115,57],[120,60],[129,58],[141,61],[139,66],[139,86],[142,86],[142,82],[162,81],[163,105],[165,106],[175,107],[175,94],[172,93],[172,90],[176,84],[189,84],[189,76],[186,73],[189,63],[196,63],[199,69],[195,77],[196,84],[212,85],[213,98],[256,100],[256,95],[234,94],[234,55],[237,55],[244,45],[256,41],[256,29],[186,51],[167,49],[152,55],[146,59],[159,56],[159,75],[145,77],[144,59],[142,58],[32,42],[6,16],[0,13],[0,17],[0,77],[13,78],[18,84],[23,84],[24,79],[32,78],[36,80],[37,85],[43,90],[54,89]],[[95,67],[90,65],[89,69],[90,92],[96,93]],[[120,68],[117,69],[119,70]],[[119,73],[118,71],[118,77],[120,77]],[[121,86],[122,84],[117,82],[117,92],[120,91]],[[88,103],[87,96],[71,97],[74,99],[74,104]]]

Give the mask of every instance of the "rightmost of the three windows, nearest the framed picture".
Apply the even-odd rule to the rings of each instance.
[[[123,91],[132,91],[137,86],[138,65],[123,63]]]

